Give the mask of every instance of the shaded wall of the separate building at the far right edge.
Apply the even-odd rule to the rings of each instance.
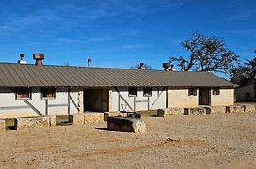
[[[236,101],[248,101],[246,100],[246,93],[249,93],[251,101],[255,99],[254,84],[242,86],[235,89]]]

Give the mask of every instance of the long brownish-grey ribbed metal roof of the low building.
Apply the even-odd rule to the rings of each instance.
[[[0,87],[228,87],[232,84],[207,72],[109,69],[0,63]]]

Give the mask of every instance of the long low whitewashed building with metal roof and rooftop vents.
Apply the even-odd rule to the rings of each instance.
[[[232,84],[207,72],[0,63],[0,118],[232,105]],[[141,65],[143,66],[143,65]]]

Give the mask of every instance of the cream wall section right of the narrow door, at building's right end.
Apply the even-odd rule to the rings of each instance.
[[[211,106],[233,105],[234,89],[220,89],[219,95],[213,95],[211,90]]]

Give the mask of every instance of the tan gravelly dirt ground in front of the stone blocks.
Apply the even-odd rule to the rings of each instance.
[[[256,114],[143,117],[145,134],[106,123],[0,132],[0,168],[256,168]]]

